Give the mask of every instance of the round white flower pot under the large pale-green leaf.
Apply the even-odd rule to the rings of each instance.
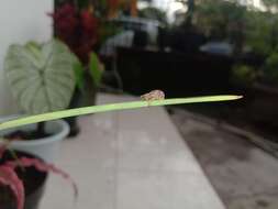
[[[7,120],[7,119],[5,119]],[[0,120],[3,121],[3,120]],[[0,132],[0,136],[16,130],[34,130],[36,124],[24,125],[21,128],[9,129]],[[59,153],[60,141],[64,140],[69,133],[68,124],[63,120],[49,121],[45,124],[45,130],[51,136],[29,140],[29,141],[13,141],[9,147],[18,151],[24,151],[41,157],[47,163],[54,163]]]

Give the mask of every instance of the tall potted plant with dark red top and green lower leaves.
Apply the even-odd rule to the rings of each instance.
[[[104,69],[96,47],[99,40],[99,20],[87,1],[60,3],[51,14],[54,21],[55,36],[64,42],[79,58],[75,65],[77,85],[69,108],[93,106]],[[94,50],[94,52],[93,52]],[[69,136],[79,133],[76,118],[66,119],[70,125]]]

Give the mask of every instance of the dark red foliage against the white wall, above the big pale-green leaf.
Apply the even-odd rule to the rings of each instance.
[[[65,42],[69,48],[88,64],[89,54],[98,40],[98,20],[92,10],[78,10],[71,3],[65,3],[51,14],[54,20],[56,36]]]

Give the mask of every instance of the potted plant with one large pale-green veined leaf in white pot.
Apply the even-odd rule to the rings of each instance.
[[[68,108],[76,85],[76,63],[78,58],[57,40],[11,45],[4,61],[4,74],[22,111],[37,114]],[[12,148],[52,163],[68,131],[67,123],[59,120],[11,129],[0,135],[12,141]]]

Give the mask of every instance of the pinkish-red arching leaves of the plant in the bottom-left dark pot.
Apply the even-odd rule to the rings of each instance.
[[[4,151],[5,146],[0,145],[0,158],[2,157]],[[77,186],[67,173],[55,167],[54,165],[46,164],[37,158],[21,157],[14,161],[5,162],[5,164],[0,165],[0,185],[8,186],[11,189],[16,199],[18,209],[23,209],[25,201],[23,183],[15,173],[15,168],[19,166],[20,167],[33,166],[40,172],[52,172],[60,175],[63,178],[67,179],[73,185],[75,198],[77,198],[78,195]]]

